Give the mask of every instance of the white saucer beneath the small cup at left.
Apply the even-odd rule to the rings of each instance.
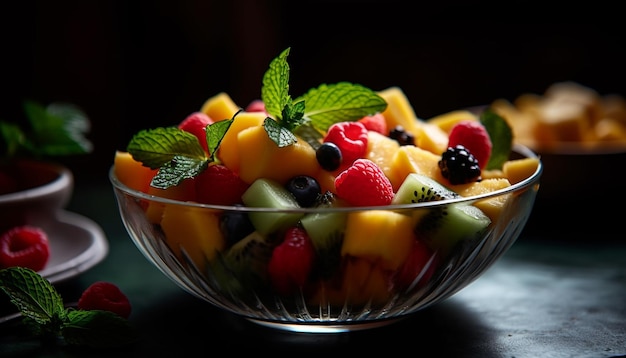
[[[98,264],[109,252],[104,232],[84,216],[63,211],[46,227],[50,241],[50,258],[39,274],[58,283],[72,278]]]

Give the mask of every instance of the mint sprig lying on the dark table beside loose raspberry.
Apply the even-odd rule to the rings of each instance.
[[[128,345],[137,339],[128,320],[113,312],[66,308],[54,286],[29,268],[1,269],[0,289],[42,341],[60,338],[71,346],[106,348]]]

